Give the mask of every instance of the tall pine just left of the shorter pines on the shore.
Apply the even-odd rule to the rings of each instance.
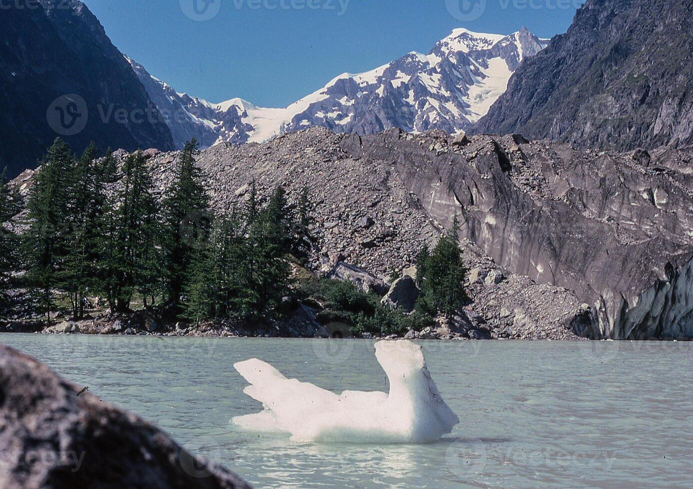
[[[163,204],[164,234],[161,242],[162,275],[166,291],[166,308],[177,313],[189,267],[196,246],[209,235],[209,196],[202,184],[203,176],[195,166],[198,143],[186,142],[175,169],[175,180]]]

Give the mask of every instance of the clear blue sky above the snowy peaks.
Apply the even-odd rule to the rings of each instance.
[[[581,0],[82,1],[123,53],[177,91],[285,107],[345,71],[428,53],[457,27],[565,33]]]

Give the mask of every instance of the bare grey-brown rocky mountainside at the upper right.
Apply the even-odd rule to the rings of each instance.
[[[693,3],[588,0],[474,131],[626,151],[693,144]]]

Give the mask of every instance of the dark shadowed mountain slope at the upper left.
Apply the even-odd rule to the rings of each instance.
[[[0,15],[0,167],[11,175],[35,165],[59,135],[78,151],[90,140],[102,147],[173,148],[168,127],[130,64],[84,4],[33,5]],[[65,136],[54,131],[47,113],[67,94],[85,100],[87,124]],[[130,117],[136,109],[143,118]],[[117,120],[119,110],[128,117]]]

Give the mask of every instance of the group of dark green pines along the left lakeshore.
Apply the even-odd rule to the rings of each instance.
[[[21,199],[3,178],[2,312],[50,319],[67,298],[80,320],[88,298],[103,297],[113,313],[141,300],[195,321],[272,315],[289,295],[290,257],[310,248],[308,192],[290,203],[277,187],[261,205],[253,183],[245,205],[214,215],[198,153],[195,140],[186,143],[157,199],[141,152],[119,167],[110,150],[99,158],[91,144],[76,156],[58,138],[34,176],[21,233],[7,225]],[[12,290],[24,290],[21,304]]]

